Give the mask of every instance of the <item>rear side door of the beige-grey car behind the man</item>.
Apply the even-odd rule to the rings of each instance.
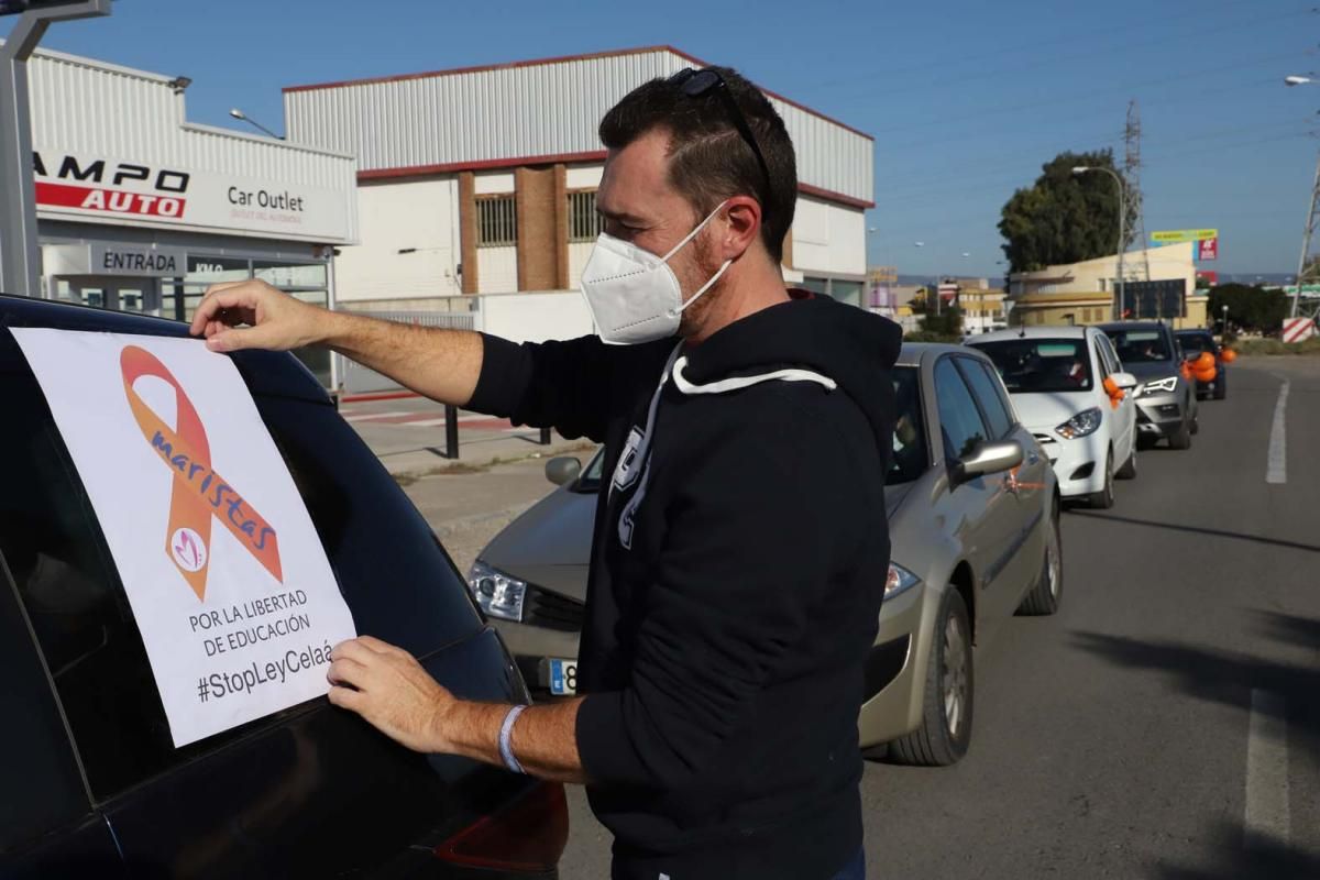
[[[1022,464],[986,479],[997,489],[991,505],[995,522],[989,528],[997,534],[998,554],[987,571],[983,598],[985,621],[993,629],[999,621],[1012,616],[1023,594],[1040,571],[1044,551],[1044,533],[1039,529],[1041,511],[1040,488],[1044,470],[1049,467],[1036,451],[1036,442],[1018,424],[1012,408],[1003,397],[998,373],[978,358],[956,358],[958,372],[981,410],[981,418],[990,431],[991,442],[1016,441],[1022,445]]]

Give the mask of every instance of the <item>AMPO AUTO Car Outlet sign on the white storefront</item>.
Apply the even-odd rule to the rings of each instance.
[[[37,212],[125,226],[187,227],[280,239],[335,240],[342,194],[108,156],[37,150]]]

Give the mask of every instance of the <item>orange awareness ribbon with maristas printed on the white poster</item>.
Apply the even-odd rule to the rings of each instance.
[[[211,447],[206,439],[206,427],[174,375],[156,355],[137,346],[124,347],[119,365],[124,376],[124,394],[143,437],[174,472],[169,528],[165,530],[165,554],[174,562],[197,598],[206,596],[213,516],[219,519],[239,544],[282,583],[280,542],[275,529],[243,500],[238,489],[211,468]],[[161,421],[147,401],[133,391],[133,383],[143,376],[162,379],[174,388],[177,429],[170,429]]]

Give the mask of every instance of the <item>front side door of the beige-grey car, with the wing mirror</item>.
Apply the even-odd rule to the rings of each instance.
[[[944,355],[935,365],[935,396],[940,416],[940,437],[946,467],[991,442],[981,406],[977,405],[957,361]],[[1010,548],[1016,528],[1016,500],[1005,483],[1007,474],[986,474],[949,491],[949,516],[945,529],[962,548],[962,555],[975,578],[975,623],[981,643],[1003,616],[1001,577],[1011,558]]]

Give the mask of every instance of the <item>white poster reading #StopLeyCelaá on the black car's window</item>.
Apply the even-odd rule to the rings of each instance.
[[[325,694],[352,617],[232,361],[194,339],[12,332],[128,591],[174,744]]]

